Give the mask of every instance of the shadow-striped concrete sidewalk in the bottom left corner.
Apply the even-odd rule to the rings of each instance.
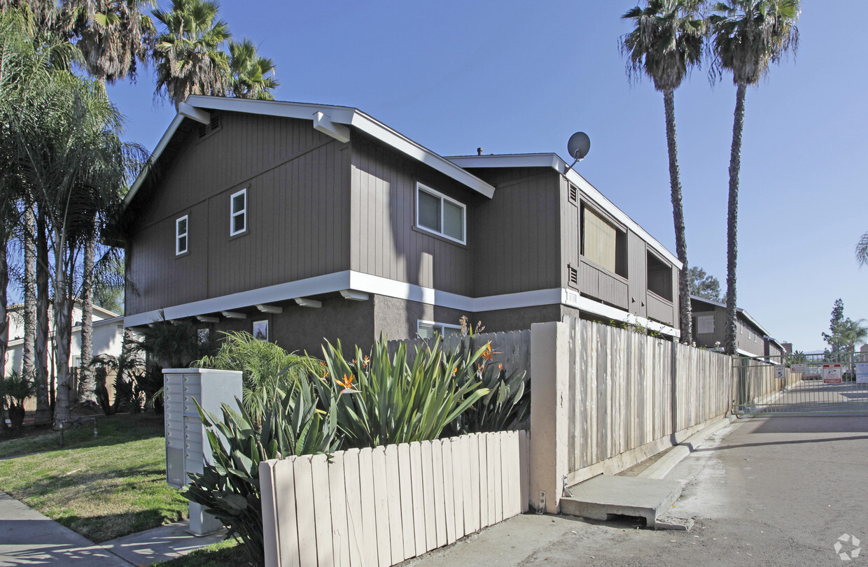
[[[186,530],[187,522],[179,522],[94,544],[0,492],[0,567],[22,564],[71,567],[147,565],[215,544],[225,535],[225,531],[220,531],[196,538]]]

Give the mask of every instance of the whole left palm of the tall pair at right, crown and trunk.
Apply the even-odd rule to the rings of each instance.
[[[690,274],[687,266],[687,236],[681,205],[681,173],[675,136],[675,95],[685,75],[700,64],[706,23],[698,16],[700,0],[648,0],[644,10],[636,6],[623,19],[633,20],[635,29],[621,37],[621,54],[627,56],[627,75],[632,81],[648,75],[654,88],[663,93],[666,112],[666,141],[669,151],[669,185],[675,250],[684,264],[679,274],[678,301],[681,341],[693,340],[690,310]]]

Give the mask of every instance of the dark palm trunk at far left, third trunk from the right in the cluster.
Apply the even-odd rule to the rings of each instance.
[[[36,426],[51,425],[49,395],[49,241],[45,213],[36,215]]]

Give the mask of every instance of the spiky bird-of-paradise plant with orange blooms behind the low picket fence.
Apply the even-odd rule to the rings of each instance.
[[[489,394],[472,370],[483,349],[447,355],[437,337],[431,347],[418,350],[410,367],[406,345],[390,356],[381,335],[370,357],[358,347],[352,362],[341,353],[340,342],[337,347],[327,343],[324,362],[310,369],[325,406],[336,408],[347,446],[437,439],[446,424]]]

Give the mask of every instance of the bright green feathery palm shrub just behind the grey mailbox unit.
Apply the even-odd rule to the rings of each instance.
[[[306,375],[306,356],[293,355],[273,342],[246,332],[223,333],[226,339],[214,356],[194,362],[198,368],[239,370],[244,383],[244,407],[262,414],[273,400],[283,397]]]

